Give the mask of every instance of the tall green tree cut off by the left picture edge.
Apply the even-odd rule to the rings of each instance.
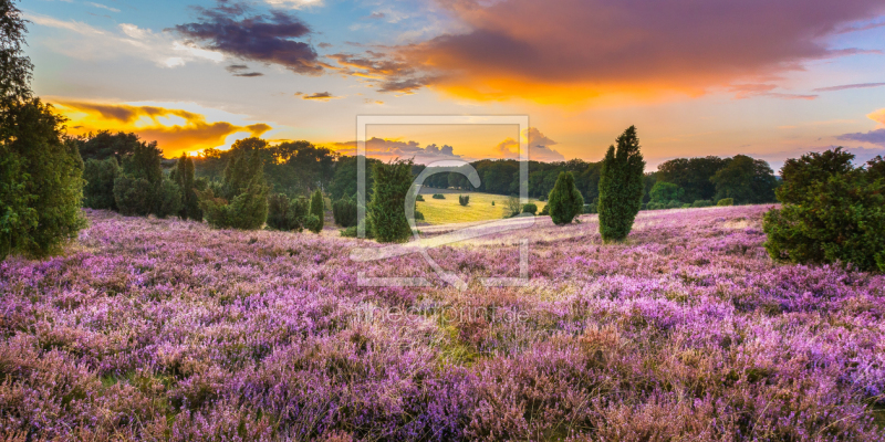
[[[0,0],[0,260],[53,253],[85,225],[83,160],[64,118],[32,96],[25,32],[21,11]]]

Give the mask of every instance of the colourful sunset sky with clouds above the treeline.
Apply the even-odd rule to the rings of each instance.
[[[353,151],[358,115],[527,115],[367,128],[378,158],[598,161],[635,125],[676,157],[885,155],[881,0],[28,0],[33,87],[69,133],[167,157],[260,136]]]

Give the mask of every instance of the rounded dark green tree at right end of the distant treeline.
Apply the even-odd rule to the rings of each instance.
[[[736,155],[710,181],[716,185],[716,199],[733,198],[741,203],[773,201],[778,188],[768,162],[746,155]]]

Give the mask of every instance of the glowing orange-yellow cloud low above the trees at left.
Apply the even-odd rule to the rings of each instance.
[[[98,130],[132,131],[145,140],[156,140],[166,157],[223,147],[231,134],[248,133],[258,137],[272,129],[263,123],[244,126],[228,122],[209,123],[201,114],[158,106],[65,99],[53,101],[53,104],[69,118],[67,129],[71,135],[86,135]]]

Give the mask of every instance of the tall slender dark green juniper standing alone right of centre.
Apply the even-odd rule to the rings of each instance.
[[[611,146],[602,164],[597,210],[603,241],[623,241],[633,229],[645,191],[644,169],[636,128],[631,126],[617,137],[617,150]]]

